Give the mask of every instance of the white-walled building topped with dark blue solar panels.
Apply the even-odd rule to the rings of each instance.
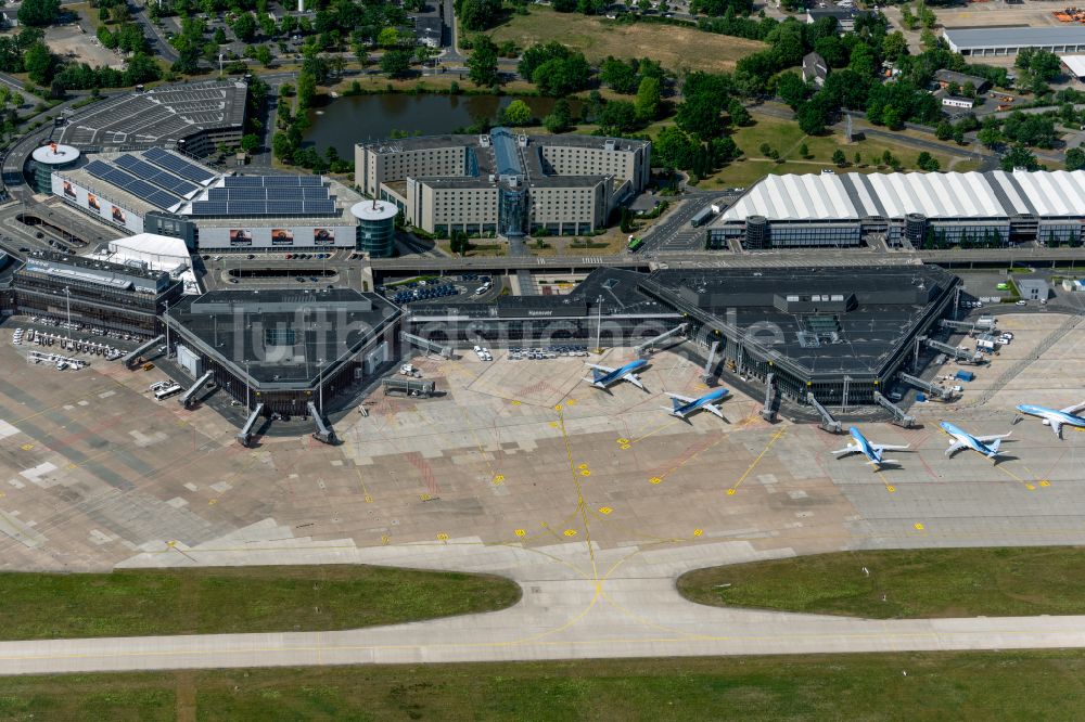
[[[84,154],[50,173],[68,206],[131,234],[180,238],[200,250],[358,248],[393,253],[391,236],[362,243],[361,201],[319,176],[237,176],[174,151]]]

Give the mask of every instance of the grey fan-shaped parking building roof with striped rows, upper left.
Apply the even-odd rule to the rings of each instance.
[[[125,93],[72,116],[53,140],[88,149],[174,144],[201,130],[244,125],[246,93],[247,86],[240,80]]]

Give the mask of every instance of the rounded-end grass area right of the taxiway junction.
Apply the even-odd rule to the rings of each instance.
[[[678,591],[701,604],[870,619],[1080,615],[1085,547],[820,554],[698,569]]]

